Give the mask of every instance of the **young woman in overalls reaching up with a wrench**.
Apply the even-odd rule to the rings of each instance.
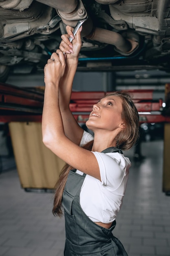
[[[138,138],[139,115],[129,94],[113,92],[93,106],[85,132],[69,103],[81,49],[81,29],[62,35],[60,49],[44,67],[44,144],[67,165],[56,185],[53,213],[64,208],[65,256],[127,256],[112,234],[122,204],[130,161],[128,150]],[[68,40],[73,38],[72,43]]]

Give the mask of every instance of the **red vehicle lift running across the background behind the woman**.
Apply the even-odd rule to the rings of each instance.
[[[140,123],[170,122],[163,115],[162,99],[153,100],[153,90],[128,90],[139,112]],[[85,123],[93,104],[109,92],[72,92],[70,109],[78,122]],[[0,84],[0,121],[41,122],[44,90]]]

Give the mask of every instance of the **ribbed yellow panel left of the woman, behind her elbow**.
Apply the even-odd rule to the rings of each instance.
[[[9,130],[21,186],[53,189],[64,161],[44,146],[41,123],[11,122]]]

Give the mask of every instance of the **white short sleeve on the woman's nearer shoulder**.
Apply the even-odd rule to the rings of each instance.
[[[102,185],[107,186],[110,190],[116,190],[126,175],[124,157],[120,153],[92,153],[99,164]]]

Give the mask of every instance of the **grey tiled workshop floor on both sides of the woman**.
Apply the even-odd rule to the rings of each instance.
[[[132,162],[114,235],[129,256],[170,256],[170,196],[162,192],[163,141],[143,142]],[[126,153],[132,157],[133,150]],[[64,220],[52,193],[25,192],[15,168],[0,174],[0,256],[63,256]]]

